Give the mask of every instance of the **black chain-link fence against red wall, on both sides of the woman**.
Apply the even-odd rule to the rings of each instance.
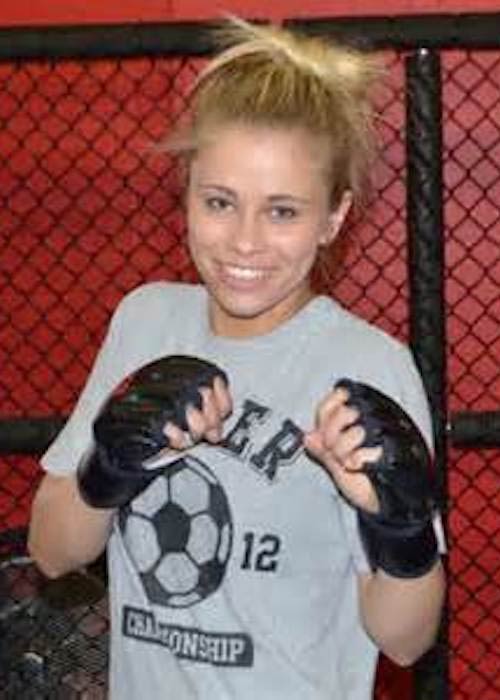
[[[377,198],[327,291],[408,340],[408,49],[385,44]],[[0,62],[0,697],[105,697],[101,563],[47,582],[26,557],[23,529],[40,478],[36,453],[71,410],[118,300],[146,280],[195,279],[181,183],[154,145],[185,110],[197,53],[21,60],[12,51]],[[497,412],[500,39],[487,51],[440,55],[447,413]],[[24,448],[9,448],[12,437]],[[498,700],[499,453],[450,445],[447,461],[449,697]],[[412,671],[383,659],[376,697],[415,697]]]

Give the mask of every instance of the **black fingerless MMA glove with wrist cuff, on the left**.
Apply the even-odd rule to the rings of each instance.
[[[145,460],[168,447],[168,421],[187,430],[186,409],[200,409],[200,389],[225,373],[196,357],[172,355],[128,378],[123,396],[112,396],[93,425],[95,448],[83,460],[77,480],[83,500],[94,508],[125,505],[162,471],[144,468]]]

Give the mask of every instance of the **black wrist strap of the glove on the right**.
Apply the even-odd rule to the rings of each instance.
[[[358,510],[358,524],[373,571],[382,569],[396,578],[418,578],[430,571],[439,558],[430,519],[399,527]]]

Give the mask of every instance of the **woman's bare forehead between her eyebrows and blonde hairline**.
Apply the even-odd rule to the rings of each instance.
[[[200,135],[191,160],[196,180],[279,180],[289,187],[317,187],[329,165],[326,139],[299,127],[245,124],[212,126]]]

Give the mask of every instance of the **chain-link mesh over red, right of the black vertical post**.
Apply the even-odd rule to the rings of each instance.
[[[500,52],[444,66],[449,407],[500,403]],[[451,450],[452,697],[500,697],[500,453]]]

